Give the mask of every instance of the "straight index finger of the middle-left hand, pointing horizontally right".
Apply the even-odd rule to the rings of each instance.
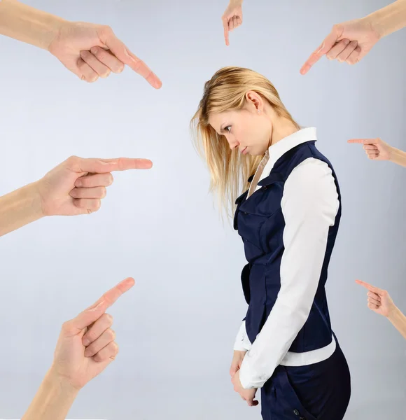
[[[152,162],[148,159],[116,158],[94,159],[80,158],[77,172],[92,174],[106,174],[113,171],[127,171],[129,169],[151,169]]]

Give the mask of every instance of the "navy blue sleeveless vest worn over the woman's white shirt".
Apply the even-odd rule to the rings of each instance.
[[[293,169],[308,158],[321,160],[332,170],[337,187],[339,210],[335,224],[328,232],[323,268],[309,317],[289,349],[295,353],[321,349],[332,341],[324,287],[328,263],[341,218],[341,194],[332,165],[314,144],[315,141],[307,141],[282,155],[276,161],[269,176],[258,183],[260,189],[248,197],[248,200],[246,199],[248,190],[237,198],[234,218],[234,228],[242,237],[248,261],[241,273],[241,283],[248,303],[245,318],[246,332],[250,342],[253,343],[272,311],[281,288],[280,267],[284,251],[283,229],[285,228],[281,200],[284,183]]]

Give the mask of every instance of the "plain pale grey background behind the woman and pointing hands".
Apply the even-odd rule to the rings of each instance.
[[[276,85],[340,179],[344,213],[330,265],[332,325],[349,360],[346,419],[406,419],[405,340],[366,305],[356,278],[406,310],[406,171],[367,160],[351,137],[405,148],[406,32],[356,66],[300,66],[335,22],[385,1],[249,1],[223,40],[226,1],[27,1],[68,20],[105,23],[162,78],[129,69],[88,85],[43,50],[0,38],[0,194],[70,155],[150,158],[116,174],[92,216],[48,218],[0,240],[0,416],[22,416],[50,366],[59,328],[126,276],[136,286],[111,314],[120,356],[78,396],[71,419],[260,419],[228,369],[246,304],[241,240],[218,218],[188,124],[204,81],[248,66]]]

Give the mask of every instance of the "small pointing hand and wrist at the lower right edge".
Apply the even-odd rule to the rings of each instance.
[[[396,330],[406,338],[406,316],[393,303],[389,293],[386,290],[371,286],[365,281],[356,280],[356,283],[368,290],[368,308],[376,314],[386,316]]]

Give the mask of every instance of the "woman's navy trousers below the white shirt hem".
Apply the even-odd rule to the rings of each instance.
[[[349,367],[337,342],[320,363],[276,368],[261,388],[262,419],[342,420],[350,396]]]

